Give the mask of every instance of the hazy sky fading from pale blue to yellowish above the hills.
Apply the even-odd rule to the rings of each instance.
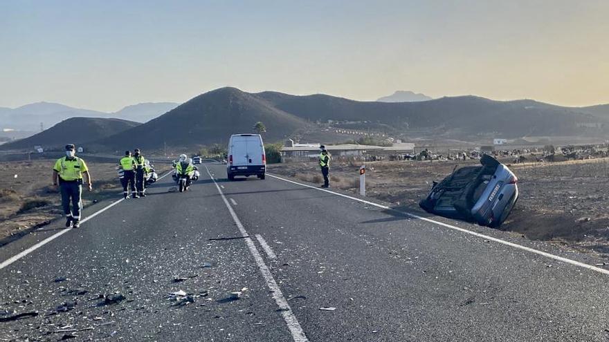
[[[609,1],[0,0],[0,106],[221,86],[609,103]]]

